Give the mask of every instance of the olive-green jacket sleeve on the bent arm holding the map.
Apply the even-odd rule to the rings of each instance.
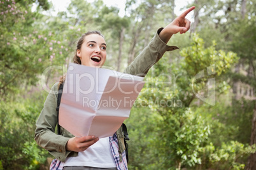
[[[66,143],[70,138],[55,134],[55,126],[57,124],[57,93],[58,83],[53,85],[45,100],[38,121],[36,121],[34,140],[36,140],[40,147],[45,148],[55,158],[63,162],[71,153],[66,151]]]

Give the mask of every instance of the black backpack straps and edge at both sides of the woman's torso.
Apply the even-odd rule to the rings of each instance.
[[[60,100],[61,100],[61,96],[62,96],[63,86],[64,86],[64,84],[60,83],[59,92],[58,92],[57,107],[56,107],[56,111],[57,111],[57,134],[60,134],[59,107],[60,107]],[[128,136],[129,134],[128,134],[126,125],[124,123],[122,124],[122,129],[123,129],[123,132],[124,132],[125,155],[126,155],[126,160],[127,160],[127,164],[128,164],[128,162],[129,162],[129,155],[128,155],[128,143],[127,143],[127,140],[130,140],[130,139],[129,139],[129,136]]]

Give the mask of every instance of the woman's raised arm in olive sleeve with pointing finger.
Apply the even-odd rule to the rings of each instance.
[[[173,36],[180,32],[183,34],[190,29],[190,21],[185,18],[190,11],[194,10],[194,6],[188,8],[180,16],[175,18],[173,22],[169,23],[164,28],[157,30],[157,33],[150,41],[148,46],[146,46],[141,53],[134,59],[134,61],[129,65],[124,72],[128,74],[138,75],[145,77],[148,70],[157,63],[160,58],[164,55],[166,51],[172,51],[178,49],[176,46],[168,46],[167,42]]]

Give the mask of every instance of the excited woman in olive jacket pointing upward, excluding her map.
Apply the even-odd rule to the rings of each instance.
[[[166,51],[178,49],[167,46],[167,42],[180,32],[190,29],[190,22],[185,16],[194,6],[175,18],[164,28],[160,28],[152,41],[125,69],[125,73],[144,77],[150,67],[160,60]],[[84,34],[77,44],[74,62],[89,67],[102,67],[106,61],[106,42],[100,32]],[[128,169],[125,159],[124,134],[122,129],[107,138],[95,136],[75,137],[66,129],[61,128],[61,135],[55,134],[57,124],[57,91],[58,83],[46,98],[45,105],[36,122],[35,140],[56,159],[64,162],[64,169]]]

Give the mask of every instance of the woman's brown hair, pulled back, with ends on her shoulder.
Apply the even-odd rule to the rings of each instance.
[[[89,35],[91,35],[91,34],[98,34],[99,36],[101,36],[101,37],[104,38],[103,34],[101,34],[101,32],[99,32],[98,30],[88,31],[88,32],[86,32],[85,34],[83,34],[83,36],[80,37],[80,39],[78,40],[78,42],[77,42],[77,44],[76,44],[76,51],[77,51],[78,49],[81,49],[82,44],[83,44],[83,41],[85,40],[85,37],[86,37],[86,36],[89,36]],[[73,63],[82,64],[82,62],[81,62],[81,60],[80,60],[80,57],[77,56],[77,54],[76,54],[76,51],[75,51],[75,55],[74,55],[74,57],[73,57]],[[60,79],[59,79],[59,85],[60,85],[60,83],[64,83],[65,79],[66,79],[66,75],[62,75],[62,76],[60,77]]]

